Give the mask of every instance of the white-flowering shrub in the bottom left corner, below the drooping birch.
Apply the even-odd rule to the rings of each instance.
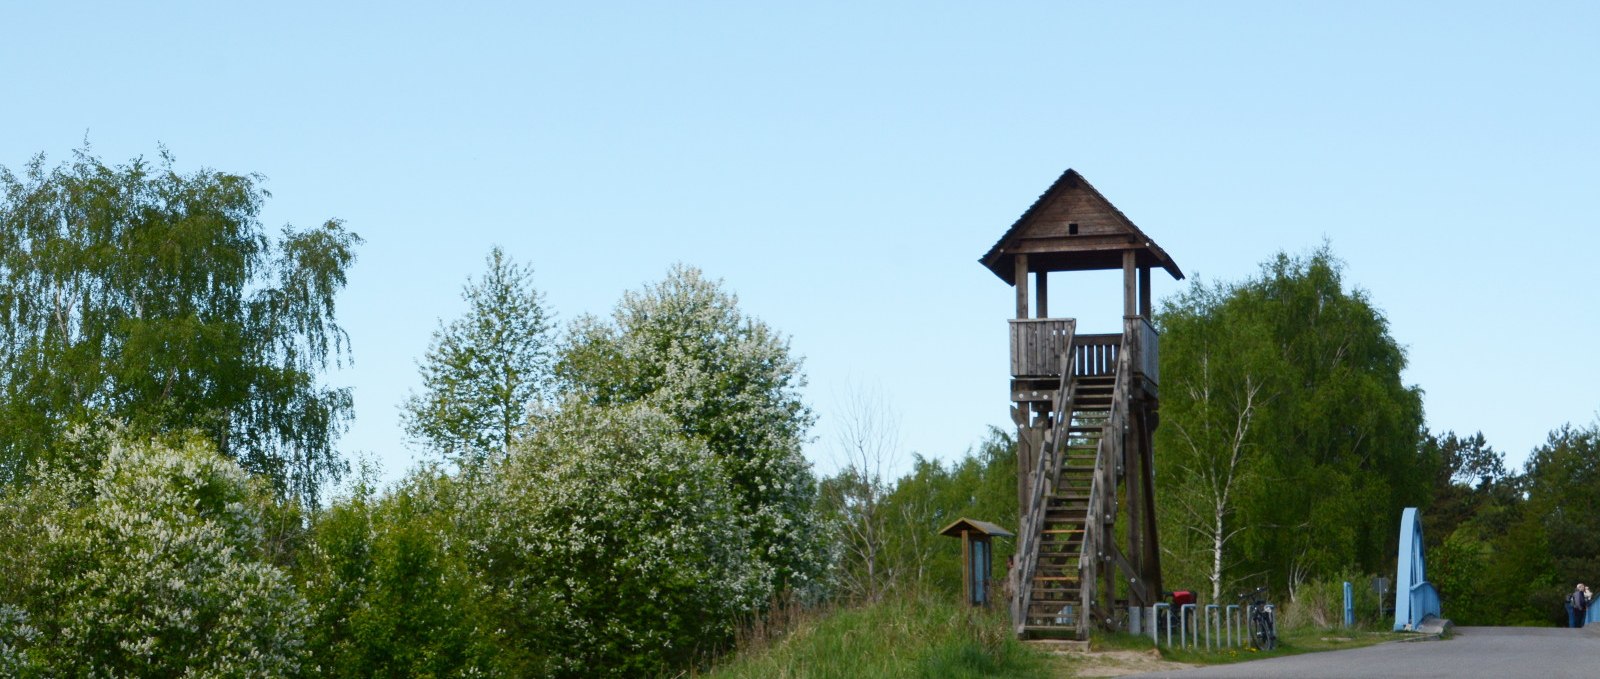
[[[301,674],[310,618],[266,559],[267,501],[203,444],[117,444],[85,482],[46,474],[10,488],[5,504],[24,511],[34,535],[13,554],[27,564],[8,567],[22,580],[0,594],[11,599],[0,601],[0,668],[80,677]]]

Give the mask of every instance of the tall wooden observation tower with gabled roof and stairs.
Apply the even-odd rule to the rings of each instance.
[[[1016,287],[1011,420],[1022,519],[1011,618],[1022,637],[1086,639],[1090,625],[1117,628],[1162,593],[1150,269],[1184,274],[1074,170],[979,261]],[[1122,269],[1120,333],[1080,335],[1075,319],[1050,315],[1048,274],[1102,269]]]

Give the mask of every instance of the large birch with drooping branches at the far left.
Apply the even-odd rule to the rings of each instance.
[[[104,416],[198,431],[310,501],[341,472],[350,392],[317,376],[347,356],[334,298],[360,237],[336,219],[269,237],[266,197],[165,151],[0,168],[0,480]]]

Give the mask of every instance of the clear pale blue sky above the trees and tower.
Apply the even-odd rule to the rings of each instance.
[[[266,175],[269,227],[346,219],[328,381],[389,477],[493,243],[563,320],[672,263],[725,279],[806,359],[819,471],[853,384],[954,458],[1008,423],[1011,288],[976,258],[1067,167],[1192,279],[1326,239],[1429,426],[1520,464],[1600,408],[1597,35],[1579,2],[10,3],[0,165],[160,143]],[[1053,311],[1109,330],[1115,283],[1054,279]]]

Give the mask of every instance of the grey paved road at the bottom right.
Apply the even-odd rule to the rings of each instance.
[[[1600,625],[1456,628],[1446,641],[1392,642],[1138,677],[1600,677]]]

